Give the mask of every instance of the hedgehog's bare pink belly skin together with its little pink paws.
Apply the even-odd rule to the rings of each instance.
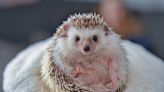
[[[101,92],[104,89],[115,89],[119,83],[119,76],[113,70],[117,68],[113,63],[115,62],[111,57],[102,57],[100,62],[76,63],[71,76],[80,80],[84,86],[98,88]],[[97,67],[102,69],[97,70]]]

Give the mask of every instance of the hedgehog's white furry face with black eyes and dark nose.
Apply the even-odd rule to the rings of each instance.
[[[68,46],[72,51],[78,51],[83,54],[98,53],[101,48],[106,46],[106,32],[103,27],[91,28],[70,28],[68,31]]]

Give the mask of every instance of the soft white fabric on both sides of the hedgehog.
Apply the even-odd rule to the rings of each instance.
[[[44,50],[51,39],[20,52],[4,71],[5,92],[48,92],[39,76]],[[140,45],[122,41],[129,60],[130,74],[124,92],[164,92],[164,63]]]

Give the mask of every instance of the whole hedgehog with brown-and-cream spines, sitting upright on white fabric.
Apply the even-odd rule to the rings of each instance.
[[[57,28],[41,76],[50,92],[123,92],[128,60],[120,35],[96,13],[75,14]]]

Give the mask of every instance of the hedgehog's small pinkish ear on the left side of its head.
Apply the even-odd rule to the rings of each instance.
[[[62,30],[58,33],[58,36],[59,37],[67,37],[68,36],[67,33],[68,33],[69,28],[70,28],[69,24],[64,24],[61,28]]]

